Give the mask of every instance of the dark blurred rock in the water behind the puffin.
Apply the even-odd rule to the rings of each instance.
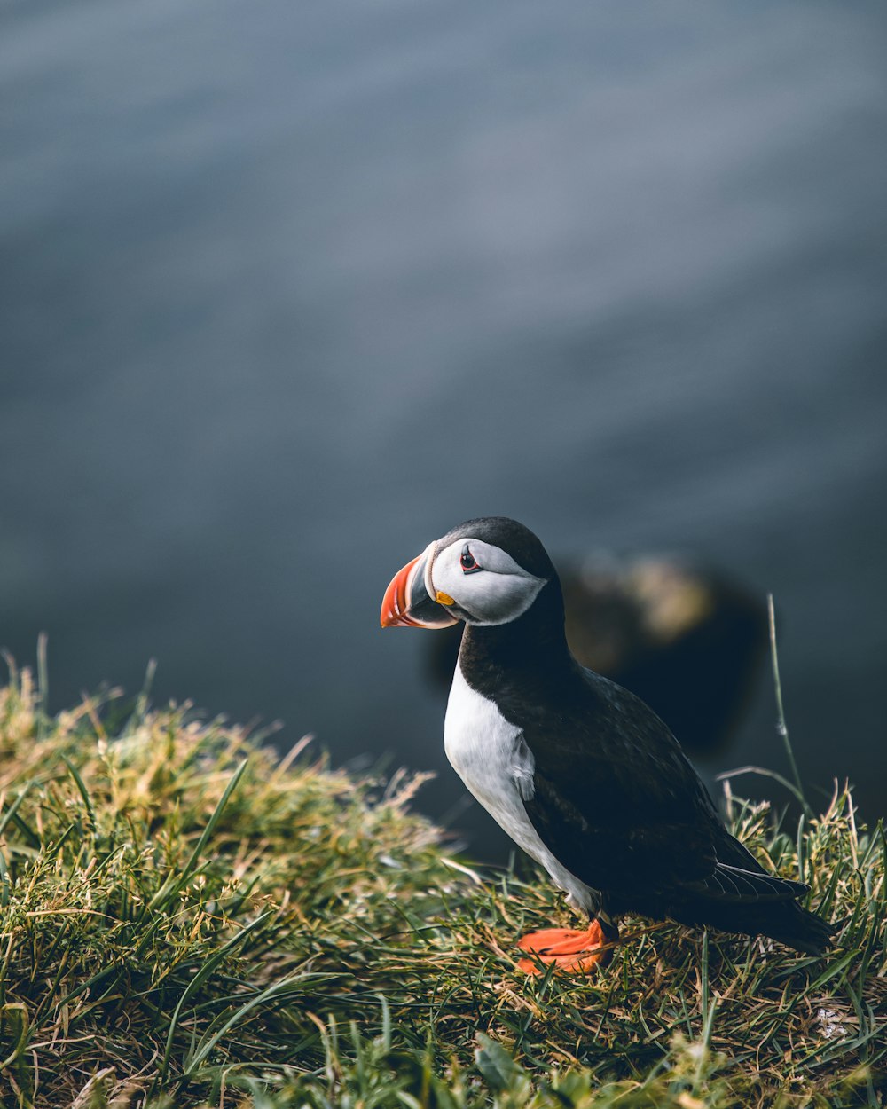
[[[764,599],[674,558],[594,556],[558,568],[579,661],[636,693],[692,754],[730,740],[767,645]],[[462,625],[425,637],[427,671],[448,690]]]

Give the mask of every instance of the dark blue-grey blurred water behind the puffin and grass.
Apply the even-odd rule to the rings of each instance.
[[[6,4],[0,641],[49,632],[55,709],[156,657],[157,700],[441,770],[440,813],[379,599],[511,515],[773,590],[798,761],[883,812],[886,40],[807,0]],[[726,763],[783,769],[773,720],[762,681]]]

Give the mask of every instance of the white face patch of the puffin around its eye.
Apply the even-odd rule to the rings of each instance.
[[[544,578],[518,566],[501,548],[470,536],[456,539],[438,553],[434,564],[426,566],[429,594],[452,598],[459,607],[453,615],[467,623],[503,624],[517,620],[544,583]]]

